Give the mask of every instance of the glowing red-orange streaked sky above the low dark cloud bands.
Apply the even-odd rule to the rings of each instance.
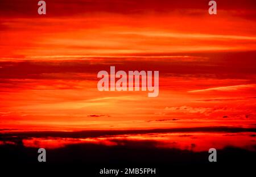
[[[0,129],[256,125],[255,1],[0,2]],[[158,70],[159,96],[97,90],[98,71]]]

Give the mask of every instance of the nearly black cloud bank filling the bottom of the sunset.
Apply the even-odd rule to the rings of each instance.
[[[184,169],[187,171],[189,167],[192,167],[191,170],[189,170],[189,175],[191,175],[193,171],[198,175],[199,172],[202,171],[202,167],[204,167],[204,170],[212,170],[213,164],[208,161],[208,151],[193,152],[191,151],[193,148],[191,148],[191,150],[154,148],[152,147],[152,145],[154,145],[152,141],[122,142],[124,144],[118,146],[76,144],[59,149],[47,149],[47,163],[43,166],[44,170],[42,170],[42,164],[39,164],[37,161],[38,148],[3,145],[0,146],[0,155],[1,161],[5,163],[3,163],[1,167],[3,169],[5,166],[9,166],[12,169],[17,169],[16,166],[21,167],[26,165],[26,167],[30,166],[31,168],[31,165],[38,165],[39,170],[46,172],[48,168],[53,165],[52,168],[56,170],[55,172],[57,172],[57,174],[61,172],[67,174],[66,168],[70,170],[72,167],[76,167],[76,170],[71,170],[72,175],[79,170],[79,175],[86,172],[86,176],[88,176],[89,173],[92,173],[92,175],[89,176],[95,176],[95,174],[98,174],[99,168],[108,168],[109,166],[112,168],[121,166],[134,168],[136,166],[152,167],[156,168],[159,174],[163,174],[158,176],[170,174],[170,167],[172,172],[174,172],[175,168],[178,168],[179,171],[177,172],[179,174],[182,174]],[[135,146],[135,144],[138,143],[139,146]],[[191,147],[195,147],[195,144],[191,144]],[[220,170],[220,167],[226,170],[227,167],[233,169],[234,166],[240,169],[246,166],[246,170],[243,170],[243,173],[245,171],[248,172],[249,169],[251,169],[251,174],[254,172],[255,151],[226,147],[225,149],[217,150],[217,158],[218,162],[217,165],[214,166],[213,172]],[[81,167],[79,165],[81,165]],[[35,167],[32,167],[35,170]],[[64,171],[63,167],[65,167]],[[22,169],[24,171],[26,168]],[[221,172],[223,172],[223,169]],[[18,172],[20,174],[20,171]],[[230,175],[232,170],[228,170],[228,172]],[[220,171],[218,171],[218,173],[220,173]]]

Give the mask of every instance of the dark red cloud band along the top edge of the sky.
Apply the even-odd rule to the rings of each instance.
[[[46,1],[47,15],[38,15],[38,0],[1,0],[0,1],[0,16],[7,17],[40,17],[46,16],[73,16],[79,14],[91,15],[93,12],[108,12],[117,14],[141,14],[147,12],[172,12],[174,10],[180,13],[188,13],[186,9],[204,10],[200,14],[205,14],[208,11],[207,0],[183,0],[183,1],[169,1],[169,0],[55,0]],[[218,1],[218,10],[225,10],[243,15],[245,18],[254,18],[255,1]],[[249,11],[249,12],[247,12]],[[189,15],[200,15],[197,11],[189,12]]]

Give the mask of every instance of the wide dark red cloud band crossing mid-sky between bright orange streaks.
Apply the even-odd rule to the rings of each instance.
[[[170,56],[184,53],[170,54]],[[256,52],[229,53],[193,53],[191,56],[208,57],[209,61],[177,61],[174,58],[102,58],[90,60],[68,61],[2,61],[0,62],[0,79],[85,79],[81,73],[92,74],[90,78],[97,79],[100,70],[110,70],[115,65],[116,70],[159,70],[164,77],[200,76],[218,79],[252,79],[256,75]],[[246,57],[245,57],[246,56]],[[144,56],[145,57],[145,56]],[[251,64],[251,65],[248,65]],[[217,70],[216,70],[217,68]],[[171,69],[171,70],[170,70]],[[252,98],[253,99],[253,98]],[[216,99],[218,100],[218,99]],[[206,100],[207,101],[207,100]],[[210,101],[210,100],[209,100]]]

